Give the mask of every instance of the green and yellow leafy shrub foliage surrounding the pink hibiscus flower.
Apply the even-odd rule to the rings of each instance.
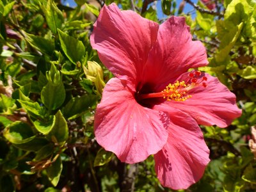
[[[248,141],[256,124],[256,1],[215,0],[214,10],[189,0],[163,0],[162,10],[152,0],[105,3],[112,2],[159,23],[186,17],[207,48],[209,65],[200,70],[217,76],[243,109],[226,129],[201,126],[212,161],[198,183],[180,191],[255,191]],[[120,163],[95,141],[99,82],[112,77],[89,41],[104,2],[76,3],[0,1],[0,191],[172,191],[159,184],[152,157]],[[185,14],[186,3],[193,9]],[[102,76],[88,61],[100,64]]]

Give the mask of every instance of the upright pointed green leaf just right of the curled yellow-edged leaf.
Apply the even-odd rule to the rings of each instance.
[[[66,141],[68,139],[68,125],[67,121],[59,110],[55,115],[55,124],[51,129],[51,132],[47,135],[47,138],[54,136],[58,143]]]

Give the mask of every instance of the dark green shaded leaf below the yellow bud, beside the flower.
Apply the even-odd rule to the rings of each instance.
[[[61,110],[63,115],[68,118],[76,118],[77,116],[81,115],[81,113],[86,112],[86,110],[95,104],[97,101],[97,96],[90,95],[83,95],[82,97],[75,97],[70,99],[67,105]]]

